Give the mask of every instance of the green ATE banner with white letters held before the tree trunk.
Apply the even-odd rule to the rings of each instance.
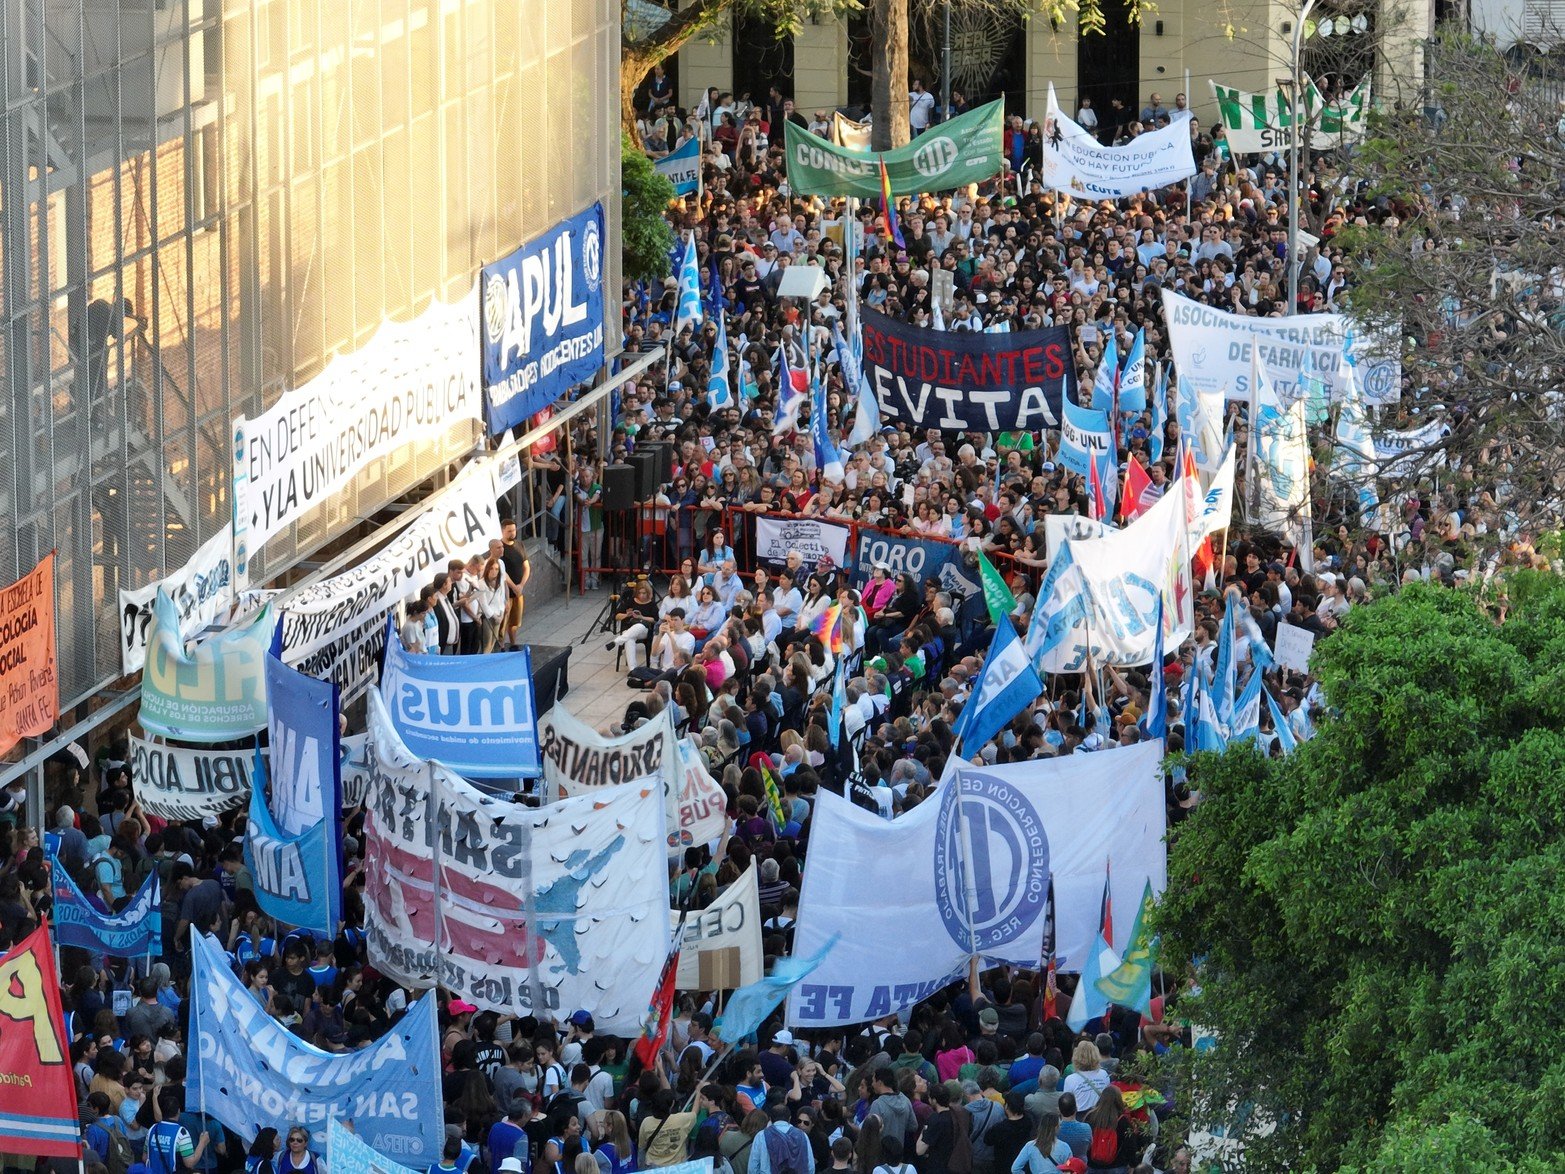
[[[850,150],[786,122],[787,182],[800,196],[881,194],[886,163],[892,196],[950,191],[997,175],[1005,166],[1005,111],[998,102],[930,127],[906,147]]]

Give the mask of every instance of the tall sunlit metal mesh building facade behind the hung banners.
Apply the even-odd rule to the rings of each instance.
[[[0,581],[58,548],[63,703],[119,676],[116,593],[230,520],[235,418],[596,199],[617,239],[618,19],[0,0]],[[474,440],[371,465],[252,581]]]

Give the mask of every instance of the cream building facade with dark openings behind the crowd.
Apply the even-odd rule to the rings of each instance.
[[[1432,31],[1434,5],[1321,3],[1319,19],[1341,11],[1365,14],[1365,31],[1322,36],[1304,47],[1305,70],[1374,75],[1374,94],[1388,103],[1416,105],[1423,80],[1419,45]],[[1293,28],[1299,5],[1277,0],[1232,0],[1210,5],[1161,0],[1139,25],[1127,20],[1125,0],[1105,0],[1105,31],[1080,34],[1034,17],[1020,20],[992,11],[952,6],[952,78],[970,105],[1005,97],[1006,110],[1042,117],[1053,83],[1061,106],[1074,113],[1083,97],[1097,110],[1117,99],[1139,111],[1158,94],[1166,105],[1189,86],[1189,105],[1202,122],[1216,117],[1208,80],[1247,91],[1272,89],[1288,77]],[[1344,22],[1347,27],[1351,22]],[[939,92],[944,5],[909,5],[909,72]],[[678,58],[679,99],[700,102],[706,86],[753,99],[772,85],[795,99],[806,114],[833,106],[865,108],[870,92],[870,27],[865,16],[808,22],[789,41],[765,30],[729,22],[715,38],[684,45]]]

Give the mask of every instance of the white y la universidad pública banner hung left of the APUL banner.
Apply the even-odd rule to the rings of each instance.
[[[233,427],[236,571],[285,526],[330,501],[371,462],[457,456],[484,432],[477,291],[434,302],[410,322],[385,322],[363,348],[338,355]]]

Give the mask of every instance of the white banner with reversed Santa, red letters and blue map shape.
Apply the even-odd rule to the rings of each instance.
[[[376,689],[369,759],[365,933],[374,966],[501,1014],[585,1010],[598,1030],[635,1036],[668,956],[657,790],[632,783],[546,808],[491,798],[413,758]]]

